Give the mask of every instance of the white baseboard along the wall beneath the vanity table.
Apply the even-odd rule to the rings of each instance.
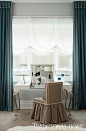
[[[63,100],[63,103],[65,104],[65,100]],[[18,105],[18,101],[17,101],[17,105]],[[69,100],[67,100],[67,108],[69,105]],[[29,100],[29,101],[20,101],[20,109],[32,109],[33,106],[33,100]],[[14,109],[16,109],[15,104],[14,104]]]

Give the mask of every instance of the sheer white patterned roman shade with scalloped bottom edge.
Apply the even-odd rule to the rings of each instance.
[[[13,53],[29,49],[38,53],[52,50],[72,54],[73,18],[13,18]]]

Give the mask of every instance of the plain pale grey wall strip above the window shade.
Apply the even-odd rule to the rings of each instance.
[[[73,16],[72,3],[13,4],[13,16]]]

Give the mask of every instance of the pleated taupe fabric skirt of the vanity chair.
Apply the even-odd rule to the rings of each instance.
[[[45,104],[34,101],[30,118],[44,124],[55,124],[67,121],[67,114],[63,103]]]

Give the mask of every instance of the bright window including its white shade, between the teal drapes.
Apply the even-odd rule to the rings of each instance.
[[[28,55],[30,51],[39,55],[57,52],[55,68],[72,70],[72,45],[71,17],[13,18],[14,70],[19,70],[20,64],[28,65],[28,59],[31,59],[31,55]]]

